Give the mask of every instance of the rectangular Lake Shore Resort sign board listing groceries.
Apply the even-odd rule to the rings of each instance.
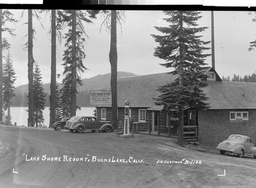
[[[111,104],[111,91],[90,91],[90,104]]]

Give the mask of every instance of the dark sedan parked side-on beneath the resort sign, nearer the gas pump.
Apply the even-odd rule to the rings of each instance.
[[[90,130],[95,132],[96,130],[102,132],[111,132],[113,131],[113,126],[109,121],[100,121],[98,117],[95,116],[73,116],[67,122],[66,126],[70,127],[69,130],[76,131],[78,133],[83,132],[84,130]]]

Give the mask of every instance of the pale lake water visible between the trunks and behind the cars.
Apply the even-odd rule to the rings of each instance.
[[[17,123],[17,126],[28,126],[28,112],[26,111],[28,107],[11,107],[11,122]],[[76,115],[93,115],[95,107],[81,107],[81,110],[76,111]],[[50,109],[46,107],[43,111],[43,115],[45,118],[44,124],[49,127],[50,122]],[[4,119],[4,118],[3,118]]]

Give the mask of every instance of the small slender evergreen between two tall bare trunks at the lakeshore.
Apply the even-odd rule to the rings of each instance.
[[[35,64],[34,69],[34,81],[33,81],[33,91],[34,91],[34,124],[36,127],[44,123],[44,116],[42,111],[45,109],[46,92],[42,85],[42,77],[40,73],[40,68],[38,64]]]

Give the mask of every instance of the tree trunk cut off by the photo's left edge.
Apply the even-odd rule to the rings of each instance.
[[[2,45],[2,9],[0,9],[0,122],[3,121],[3,45]]]

